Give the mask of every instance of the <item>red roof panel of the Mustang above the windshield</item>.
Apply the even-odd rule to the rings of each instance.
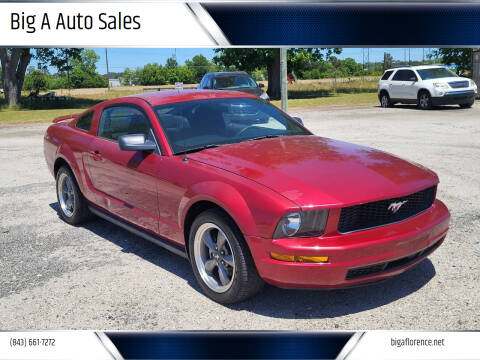
[[[255,95],[247,94],[244,92],[226,90],[170,90],[140,93],[124,97],[140,98],[145,100],[152,106],[192,100],[208,100],[220,98],[258,98]]]

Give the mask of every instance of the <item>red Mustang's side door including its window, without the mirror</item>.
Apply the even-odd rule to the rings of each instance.
[[[156,169],[160,150],[122,151],[118,137],[144,134],[157,142],[152,124],[141,106],[117,103],[105,107],[97,136],[90,145],[88,173],[98,205],[128,222],[158,232]],[[158,142],[157,142],[158,144]]]

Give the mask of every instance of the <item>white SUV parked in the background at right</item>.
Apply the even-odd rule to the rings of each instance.
[[[401,66],[385,71],[378,82],[382,107],[395,103],[417,104],[421,109],[458,104],[469,108],[475,102],[477,85],[442,65]]]

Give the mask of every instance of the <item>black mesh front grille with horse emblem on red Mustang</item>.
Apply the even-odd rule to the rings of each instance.
[[[342,208],[338,231],[347,233],[365,230],[408,219],[432,206],[435,190],[436,187],[432,186],[403,197]],[[394,212],[394,208],[400,203],[403,204]]]

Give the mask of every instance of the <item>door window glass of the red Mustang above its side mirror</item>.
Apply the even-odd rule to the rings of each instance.
[[[118,137],[128,134],[150,134],[150,121],[143,111],[129,105],[118,105],[106,108],[102,112],[98,136],[118,141]]]

